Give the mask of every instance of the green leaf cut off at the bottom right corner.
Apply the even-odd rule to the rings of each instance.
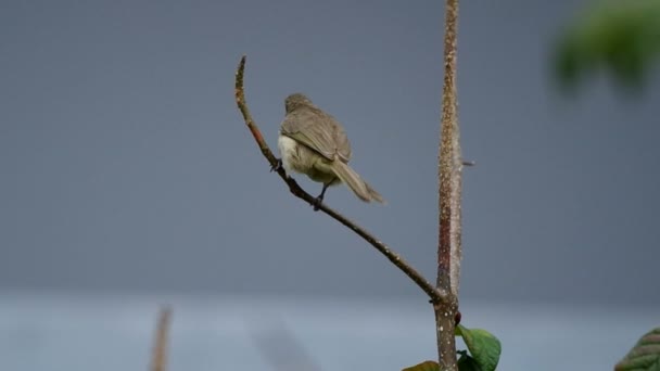
[[[623,357],[615,371],[660,371],[660,328],[646,333]]]

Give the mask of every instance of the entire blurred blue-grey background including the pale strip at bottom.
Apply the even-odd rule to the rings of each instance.
[[[611,369],[660,322],[660,77],[563,91],[587,4],[460,9],[462,323],[503,370]],[[275,369],[284,334],[322,370],[435,358],[423,293],[268,172],[233,74],[248,54],[274,149],[289,93],[344,124],[389,205],[327,203],[433,281],[443,23],[442,1],[2,1],[0,369],[144,370],[162,304],[175,371]]]

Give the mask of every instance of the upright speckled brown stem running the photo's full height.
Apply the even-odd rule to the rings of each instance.
[[[456,99],[456,43],[458,0],[446,1],[444,84],[439,150],[437,289],[449,293],[434,303],[437,353],[441,370],[457,370],[454,329],[458,314],[460,276],[460,195],[462,159]]]

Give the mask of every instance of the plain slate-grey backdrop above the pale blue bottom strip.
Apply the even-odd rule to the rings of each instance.
[[[462,3],[464,297],[660,303],[660,79],[635,101],[604,78],[560,97],[548,52],[576,9]],[[268,172],[233,73],[246,53],[274,149],[291,92],[344,124],[389,205],[327,202],[434,280],[443,17],[442,1],[3,1],[0,287],[420,296]]]

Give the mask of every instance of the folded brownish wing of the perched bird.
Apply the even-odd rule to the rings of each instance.
[[[346,133],[334,118],[322,112],[312,110],[292,112],[284,117],[281,132],[328,159],[335,159],[337,155],[344,162],[351,158],[351,143]]]

